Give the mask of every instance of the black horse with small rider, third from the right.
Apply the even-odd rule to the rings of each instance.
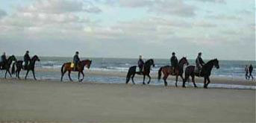
[[[128,70],[128,73],[127,73],[127,76],[126,76],[126,83],[128,83],[130,81],[130,78],[131,78],[132,83],[134,83],[134,75],[138,74],[138,75],[143,75],[143,84],[145,84],[145,82],[144,82],[145,77],[148,76],[149,77],[148,84],[149,84],[150,80],[151,80],[151,77],[149,75],[151,66],[154,67],[154,60],[153,59],[150,59],[150,60],[146,61],[146,63],[144,64],[144,67],[143,67],[144,68],[143,73],[136,72],[137,66],[131,66],[130,69]]]

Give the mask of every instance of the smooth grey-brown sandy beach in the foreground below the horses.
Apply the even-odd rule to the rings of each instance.
[[[0,79],[0,121],[255,122],[255,90]]]

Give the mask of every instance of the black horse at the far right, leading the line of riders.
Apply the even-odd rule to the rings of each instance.
[[[190,76],[192,78],[194,86],[197,87],[196,83],[195,83],[195,76],[198,76],[198,77],[205,78],[204,88],[207,89],[207,86],[210,83],[210,72],[213,69],[213,66],[215,66],[216,69],[219,69],[219,60],[214,59],[214,60],[210,60],[209,62],[207,62],[202,67],[202,71],[200,73],[200,76],[199,76],[199,73],[195,73],[196,66],[188,66],[185,70],[185,79],[183,81],[183,87],[185,87],[185,83],[186,83],[187,79],[190,78]],[[208,81],[208,82],[206,83],[206,81]]]

